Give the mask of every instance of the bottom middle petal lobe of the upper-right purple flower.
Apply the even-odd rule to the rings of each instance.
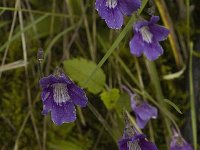
[[[153,61],[163,54],[163,48],[158,42],[145,43],[144,54],[148,60]]]

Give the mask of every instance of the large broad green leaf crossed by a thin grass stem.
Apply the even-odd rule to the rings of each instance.
[[[88,79],[92,71],[97,67],[93,61],[88,61],[83,58],[74,58],[64,61],[64,70],[78,84],[87,88],[89,92],[97,94],[104,89],[105,74],[102,69],[99,69],[94,76],[91,77],[87,85],[84,81]]]

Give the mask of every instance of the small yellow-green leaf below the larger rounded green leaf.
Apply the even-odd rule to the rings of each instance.
[[[104,91],[101,93],[101,100],[103,101],[104,105],[107,109],[112,109],[115,107],[117,100],[120,97],[118,89],[111,89],[109,91]]]

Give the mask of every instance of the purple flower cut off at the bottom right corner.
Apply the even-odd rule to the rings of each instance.
[[[174,130],[174,135],[170,143],[170,150],[193,150],[193,148],[185,141],[180,133]]]

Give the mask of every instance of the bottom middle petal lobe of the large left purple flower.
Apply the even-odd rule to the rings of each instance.
[[[51,118],[52,121],[57,125],[75,121],[76,110],[74,104],[71,102],[67,102],[64,105],[59,106],[54,103],[51,111]]]

